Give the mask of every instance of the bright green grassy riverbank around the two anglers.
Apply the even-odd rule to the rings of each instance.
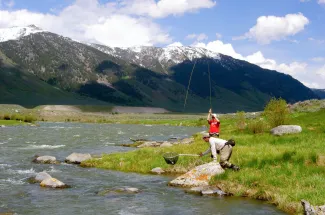
[[[301,199],[313,205],[323,205],[325,199],[325,109],[311,113],[290,115],[290,124],[300,125],[302,133],[272,136],[268,131],[253,134],[239,131],[233,118],[222,120],[223,139],[233,138],[236,146],[231,162],[241,167],[239,172],[227,170],[211,180],[225,192],[266,200],[290,214],[303,212]],[[126,153],[103,155],[82,163],[83,167],[113,169],[125,172],[150,173],[162,167],[167,173],[184,173],[194,166],[209,162],[203,158],[180,157],[174,166],[165,163],[165,152],[199,153],[207,143],[195,135],[191,145],[169,148],[144,148]]]

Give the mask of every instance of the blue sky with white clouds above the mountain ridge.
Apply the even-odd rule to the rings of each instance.
[[[325,89],[325,0],[0,0],[0,28],[30,24],[114,47],[204,47]]]

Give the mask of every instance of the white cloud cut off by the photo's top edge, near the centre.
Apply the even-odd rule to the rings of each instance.
[[[216,5],[212,0],[120,0],[116,7],[123,13],[153,18],[164,18],[169,15],[183,15]]]

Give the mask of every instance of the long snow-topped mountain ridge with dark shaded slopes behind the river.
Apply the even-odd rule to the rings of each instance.
[[[193,68],[185,111],[206,112],[210,107],[209,71],[217,112],[261,110],[272,96],[291,103],[318,98],[289,75],[203,48],[113,48],[35,28],[10,32],[20,34],[0,42],[0,51],[30,75],[64,91],[114,104],[183,111]]]

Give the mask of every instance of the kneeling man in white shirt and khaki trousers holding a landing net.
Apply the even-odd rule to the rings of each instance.
[[[217,161],[217,151],[220,153],[220,165],[222,168],[230,168],[235,171],[239,170],[239,167],[230,163],[229,159],[232,154],[232,147],[235,145],[234,140],[223,140],[220,138],[210,137],[208,133],[203,134],[203,140],[210,143],[210,148],[204,153],[200,153],[200,157],[208,154],[211,151],[211,157],[213,161]]]

